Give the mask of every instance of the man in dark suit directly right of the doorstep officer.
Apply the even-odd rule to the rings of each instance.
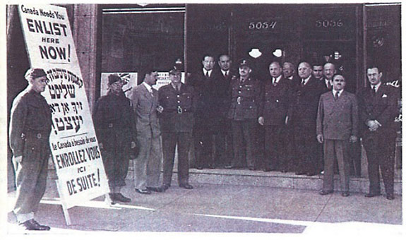
[[[282,77],[282,67],[278,61],[269,65],[271,78],[265,81],[263,100],[260,105],[258,123],[265,126],[264,172],[287,172],[286,120],[291,98],[289,80]]]

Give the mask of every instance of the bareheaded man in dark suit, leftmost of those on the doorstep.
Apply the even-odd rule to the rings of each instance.
[[[213,95],[213,85],[217,75],[213,70],[214,56],[205,55],[202,60],[203,68],[189,78],[197,99],[195,112],[196,124],[193,128],[193,141],[196,153],[196,168],[215,168],[213,156],[213,124],[217,119],[217,106],[213,104],[217,96]],[[214,84],[213,84],[214,83]]]

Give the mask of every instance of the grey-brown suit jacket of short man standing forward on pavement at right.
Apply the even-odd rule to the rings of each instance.
[[[334,100],[333,91],[323,93],[318,102],[316,135],[325,139],[349,140],[358,136],[358,104],[354,94],[342,91]]]

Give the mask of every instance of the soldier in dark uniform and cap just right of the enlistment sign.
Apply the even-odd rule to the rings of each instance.
[[[129,169],[131,149],[136,148],[133,109],[122,90],[123,81],[117,74],[109,75],[108,85],[107,95],[100,97],[95,104],[93,124],[109,179],[112,204],[116,201],[129,203],[131,199],[120,191],[126,185],[124,180]]]

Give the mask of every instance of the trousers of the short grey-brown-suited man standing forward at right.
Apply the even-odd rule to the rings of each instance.
[[[334,190],[334,165],[335,159],[338,162],[338,172],[340,174],[341,191],[350,191],[350,140],[324,139],[324,176],[323,190]]]

